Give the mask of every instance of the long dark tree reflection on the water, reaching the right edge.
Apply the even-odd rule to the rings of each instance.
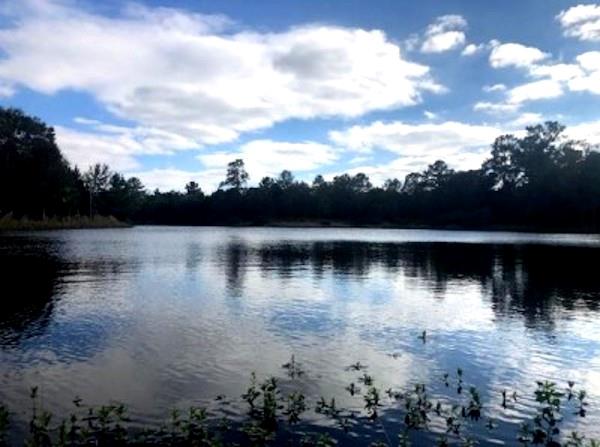
[[[600,251],[595,247],[460,243],[290,242],[225,246],[224,274],[239,295],[249,266],[290,278],[310,269],[360,281],[383,269],[429,284],[443,298],[448,287],[476,282],[498,317],[522,316],[528,326],[551,323],[557,308],[598,311]]]

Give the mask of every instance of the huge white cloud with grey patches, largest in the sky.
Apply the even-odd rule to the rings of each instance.
[[[119,117],[196,146],[290,118],[413,105],[424,91],[442,91],[427,66],[404,59],[377,30],[305,25],[263,33],[168,8],[108,17],[27,4],[14,6],[0,31],[2,85],[89,93]]]

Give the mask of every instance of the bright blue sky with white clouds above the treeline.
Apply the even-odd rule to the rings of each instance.
[[[0,0],[0,105],[149,190],[475,169],[546,120],[600,144],[600,3]]]

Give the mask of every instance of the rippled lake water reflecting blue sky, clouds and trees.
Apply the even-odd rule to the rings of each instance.
[[[0,235],[0,402],[29,388],[60,414],[76,395],[143,423],[236,397],[294,354],[311,396],[369,365],[383,389],[457,367],[500,429],[532,412],[503,389],[574,380],[600,436],[600,238],[371,229],[136,227]],[[419,334],[427,331],[423,343]],[[344,403],[344,398],[340,397]],[[348,403],[350,405],[350,403]],[[512,436],[512,434],[510,435]]]

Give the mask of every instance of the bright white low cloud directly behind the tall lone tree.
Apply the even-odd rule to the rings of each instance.
[[[227,163],[241,158],[250,180],[256,184],[265,176],[277,176],[283,169],[293,173],[314,171],[337,160],[338,152],[332,146],[313,141],[253,140],[236,151],[201,154],[197,158],[206,168],[222,172],[225,172]]]

